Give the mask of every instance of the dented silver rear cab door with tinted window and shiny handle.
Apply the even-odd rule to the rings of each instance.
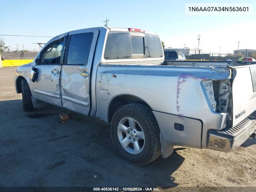
[[[61,71],[61,99],[65,109],[84,115],[90,110],[90,74],[98,29],[70,32]]]

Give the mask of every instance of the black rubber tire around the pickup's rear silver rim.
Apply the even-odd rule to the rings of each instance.
[[[118,139],[118,123],[125,117],[135,119],[145,134],[145,145],[141,153],[128,153]],[[145,104],[131,103],[117,109],[111,120],[111,137],[119,155],[136,165],[146,165],[161,154],[160,131],[152,110]]]

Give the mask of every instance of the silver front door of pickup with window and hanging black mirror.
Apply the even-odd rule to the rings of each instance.
[[[38,76],[34,83],[30,83],[34,99],[60,107],[60,72],[65,48],[64,39],[65,37],[54,40],[40,52],[39,63],[36,66]]]

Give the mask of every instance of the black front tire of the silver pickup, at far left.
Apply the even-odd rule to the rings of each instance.
[[[35,108],[32,103],[31,91],[28,86],[28,82],[25,79],[22,79],[22,81],[21,81],[21,92],[22,92],[23,110],[26,112],[34,111]]]

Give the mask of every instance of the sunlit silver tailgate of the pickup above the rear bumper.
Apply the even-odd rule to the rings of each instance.
[[[256,110],[256,65],[232,67],[233,126]]]

